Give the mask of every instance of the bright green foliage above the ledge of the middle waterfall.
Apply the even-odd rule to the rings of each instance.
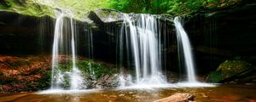
[[[203,0],[110,0],[110,7],[127,13],[185,14],[198,10]]]

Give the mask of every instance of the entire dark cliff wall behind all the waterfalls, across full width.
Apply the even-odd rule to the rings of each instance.
[[[185,17],[184,28],[192,42],[198,71],[213,71],[225,59],[236,56],[250,63],[255,62],[255,8],[255,3],[247,3],[212,12],[196,12]],[[4,11],[0,15],[0,54],[51,54],[55,19]],[[85,21],[76,20],[76,29],[79,31],[77,54],[89,56],[88,34],[91,31],[94,58],[115,63],[116,34],[123,20],[121,15],[118,11],[102,9],[84,15],[87,16]],[[172,16],[161,16],[164,18],[162,21],[167,22],[167,67],[177,67]]]

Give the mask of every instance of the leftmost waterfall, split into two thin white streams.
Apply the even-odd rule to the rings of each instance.
[[[69,84],[70,89],[81,89],[84,88],[84,77],[82,77],[82,72],[76,67],[76,48],[75,48],[75,31],[73,14],[69,11],[56,11],[57,20],[55,23],[55,37],[53,43],[52,52],[52,79],[51,79],[51,89],[61,89],[64,83],[64,77],[68,76],[70,78]],[[64,44],[68,43],[70,39],[64,39],[68,35],[64,35],[64,17],[68,16],[70,18],[71,26],[71,52],[72,52],[72,70],[69,72],[62,72],[59,67],[59,53],[62,52]],[[66,34],[66,33],[65,33]],[[68,33],[67,33],[68,34]]]

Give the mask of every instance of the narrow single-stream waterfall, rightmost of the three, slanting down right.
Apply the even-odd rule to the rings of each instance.
[[[186,31],[184,31],[181,24],[181,19],[179,17],[174,18],[174,24],[177,31],[178,53],[184,55],[186,71],[188,74],[188,82],[197,82],[195,78],[195,66],[193,62],[193,55],[191,51],[189,37]]]

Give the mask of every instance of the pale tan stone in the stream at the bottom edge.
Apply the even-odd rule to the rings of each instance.
[[[167,98],[159,99],[154,102],[189,102],[189,100],[194,100],[195,95],[193,94],[173,94]]]

